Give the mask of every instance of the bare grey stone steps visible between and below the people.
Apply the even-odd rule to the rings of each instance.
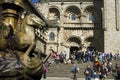
[[[112,61],[113,64],[113,68],[115,66],[115,63],[120,64],[120,60],[119,61]],[[87,63],[75,63],[79,68],[80,71],[77,73],[77,77],[78,78],[83,78],[84,77],[84,70],[86,68],[87,65],[91,65],[92,66],[92,62],[87,62]],[[73,74],[71,72],[71,68],[72,68],[73,64],[63,64],[63,63],[59,63],[59,64],[52,64],[49,68],[49,71],[47,73],[48,77],[69,77],[72,78]],[[114,78],[112,76],[112,73],[110,73],[107,78],[112,79]]]

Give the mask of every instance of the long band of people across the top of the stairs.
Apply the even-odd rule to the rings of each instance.
[[[119,53],[102,53],[102,52],[97,52],[97,51],[73,51],[73,53],[70,54],[70,58],[66,59],[66,52],[63,51],[60,54],[56,52],[51,53],[51,57],[54,58],[54,61],[56,63],[61,62],[65,64],[69,63],[74,63],[75,60],[78,62],[94,62],[95,60],[100,60],[102,62],[105,62],[105,60],[118,60],[120,59]],[[54,61],[49,60],[50,63],[52,64]]]

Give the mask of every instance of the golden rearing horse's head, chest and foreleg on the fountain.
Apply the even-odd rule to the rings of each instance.
[[[46,26],[46,24],[36,15],[29,14],[23,19],[22,24],[19,26],[21,27],[21,31],[16,32],[16,37],[19,42],[18,48],[23,49],[29,45],[25,52],[25,54],[29,56],[36,43],[35,28],[41,29]]]

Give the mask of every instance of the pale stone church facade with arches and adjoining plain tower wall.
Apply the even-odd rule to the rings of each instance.
[[[120,49],[120,0],[40,0],[35,6],[50,23],[46,53]]]

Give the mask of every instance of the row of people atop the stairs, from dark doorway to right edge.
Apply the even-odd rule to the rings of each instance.
[[[112,53],[102,53],[102,52],[97,52],[97,51],[73,51],[73,53],[71,53],[71,59],[75,59],[78,61],[82,61],[82,62],[89,62],[89,61],[94,61],[95,57],[99,56],[100,59],[102,59],[102,57],[106,57],[109,58],[110,60],[112,58],[114,59],[118,59],[119,58],[119,54],[115,54],[113,55]]]

